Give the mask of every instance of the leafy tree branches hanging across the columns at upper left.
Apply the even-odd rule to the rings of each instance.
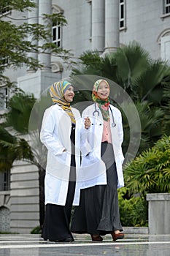
[[[36,59],[30,57],[28,53],[53,53],[57,56],[68,59],[69,50],[59,48],[50,42],[51,24],[55,21],[61,26],[66,25],[66,18],[63,15],[55,13],[53,15],[44,15],[45,26],[38,23],[27,23],[24,12],[31,12],[35,7],[33,1],[28,0],[1,0],[0,9],[9,7],[9,10],[20,12],[20,18],[12,18],[11,12],[7,12],[0,18],[0,80],[5,79],[3,72],[7,68],[18,69],[26,65],[30,69],[42,67]],[[15,25],[22,21],[20,25]],[[37,45],[36,40],[41,40],[42,45]],[[7,61],[7,62],[6,62]],[[7,63],[7,64],[6,64]]]

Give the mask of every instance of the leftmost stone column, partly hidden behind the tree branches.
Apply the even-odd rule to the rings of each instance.
[[[34,24],[34,23],[39,23],[39,10],[38,10],[38,6],[39,6],[39,0],[31,0],[36,4],[36,8],[32,9],[31,12],[28,12],[28,24]],[[32,37],[28,36],[28,40],[31,42],[32,41]],[[37,45],[38,42],[36,40],[34,40],[32,42],[34,45]],[[28,56],[34,59],[38,58],[38,54],[37,53],[28,53]],[[29,68],[27,69],[28,73],[31,72],[35,72],[33,69]]]

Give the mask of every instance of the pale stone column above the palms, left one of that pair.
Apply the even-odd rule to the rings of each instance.
[[[104,51],[104,0],[92,1],[92,50]]]

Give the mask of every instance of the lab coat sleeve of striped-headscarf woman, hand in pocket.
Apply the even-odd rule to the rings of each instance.
[[[57,135],[53,135],[55,129],[55,117],[49,110],[45,110],[45,114],[42,120],[42,129],[40,132],[40,140],[47,147],[47,150],[53,152],[53,154],[62,154],[63,148],[61,142],[58,140]]]

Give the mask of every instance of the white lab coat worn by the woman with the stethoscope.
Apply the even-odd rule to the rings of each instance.
[[[112,133],[112,146],[115,154],[115,164],[117,167],[117,188],[124,186],[123,180],[123,125],[120,110],[110,105],[115,120],[115,127],[112,127],[112,113],[109,109],[110,129]],[[94,113],[95,104],[88,106],[82,112],[82,119],[89,117],[91,121],[90,129],[82,129],[81,151],[82,151],[82,183],[81,189],[93,187],[99,184],[107,184],[107,173],[104,162],[101,160],[101,140],[103,133],[103,118],[101,110],[96,104],[98,113]],[[90,153],[89,153],[90,152]],[[88,155],[87,155],[88,154]]]

